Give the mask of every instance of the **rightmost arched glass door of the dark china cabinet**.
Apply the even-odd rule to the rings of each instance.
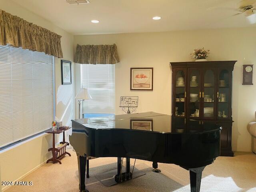
[[[231,74],[227,69],[218,70],[218,119],[231,118]]]

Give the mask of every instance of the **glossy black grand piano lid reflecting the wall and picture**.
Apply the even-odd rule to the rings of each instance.
[[[93,130],[130,130],[170,134],[204,134],[221,130],[221,126],[198,120],[190,120],[186,125],[184,118],[172,118],[170,115],[154,112],[113,115],[107,117],[72,120],[80,127],[73,127],[73,132],[83,128]]]

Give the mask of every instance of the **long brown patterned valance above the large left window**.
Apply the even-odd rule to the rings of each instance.
[[[0,10],[0,44],[22,47],[62,58],[61,36]]]

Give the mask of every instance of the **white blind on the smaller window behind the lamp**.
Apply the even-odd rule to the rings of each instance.
[[[82,88],[92,100],[83,102],[83,113],[115,113],[115,65],[81,65]]]

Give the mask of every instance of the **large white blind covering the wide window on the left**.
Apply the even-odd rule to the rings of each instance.
[[[51,127],[54,57],[0,46],[0,148]]]

